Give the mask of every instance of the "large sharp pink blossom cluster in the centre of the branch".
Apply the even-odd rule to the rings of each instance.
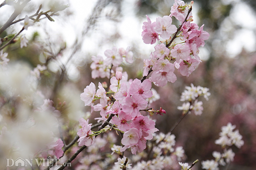
[[[80,97],[85,106],[91,106],[92,111],[100,111],[101,117],[96,118],[98,121],[106,121],[111,114],[114,115],[110,123],[115,124],[124,133],[124,147],[121,152],[127,148],[132,149],[132,154],[136,154],[136,151],[142,152],[146,148],[146,141],[152,139],[152,133],[157,131],[155,122],[140,113],[148,106],[146,99],[153,95],[150,90],[151,82],[148,79],[143,82],[139,79],[128,81],[122,72],[117,71],[110,83],[110,92],[115,92],[111,97],[107,97],[101,83],[96,91],[93,82],[84,89]],[[99,103],[95,105],[94,102],[98,99]],[[165,113],[163,109],[155,112]]]

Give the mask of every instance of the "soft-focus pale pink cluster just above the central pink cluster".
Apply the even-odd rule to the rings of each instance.
[[[101,55],[92,56],[92,64],[91,64],[91,77],[96,79],[98,77],[108,79],[110,78],[110,70],[112,66],[119,66],[125,58],[125,61],[128,63],[133,63],[133,53],[130,51],[130,47],[126,48],[119,48],[117,50],[116,47],[112,49],[107,49],[105,52],[105,59]]]

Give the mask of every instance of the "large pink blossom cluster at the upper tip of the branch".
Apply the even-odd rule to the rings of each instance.
[[[204,40],[210,35],[203,31],[203,26],[198,29],[197,24],[191,23],[192,4],[193,1],[191,5],[187,5],[181,0],[175,0],[169,16],[158,17],[156,22],[152,22],[147,16],[147,22],[143,23],[141,35],[144,43],[154,44],[156,40],[160,40],[159,36],[163,38],[160,42],[166,43],[156,45],[155,51],[144,60],[143,76],[153,71],[149,79],[156,86],[163,87],[167,82],[176,81],[174,66],[183,76],[188,77],[201,62],[198,48],[204,46]],[[172,16],[182,23],[178,29],[172,25]],[[178,31],[180,31],[179,35],[177,35]],[[174,36],[171,37],[171,34]],[[175,38],[179,38],[182,42],[173,42]],[[171,63],[172,60],[175,62]]]

